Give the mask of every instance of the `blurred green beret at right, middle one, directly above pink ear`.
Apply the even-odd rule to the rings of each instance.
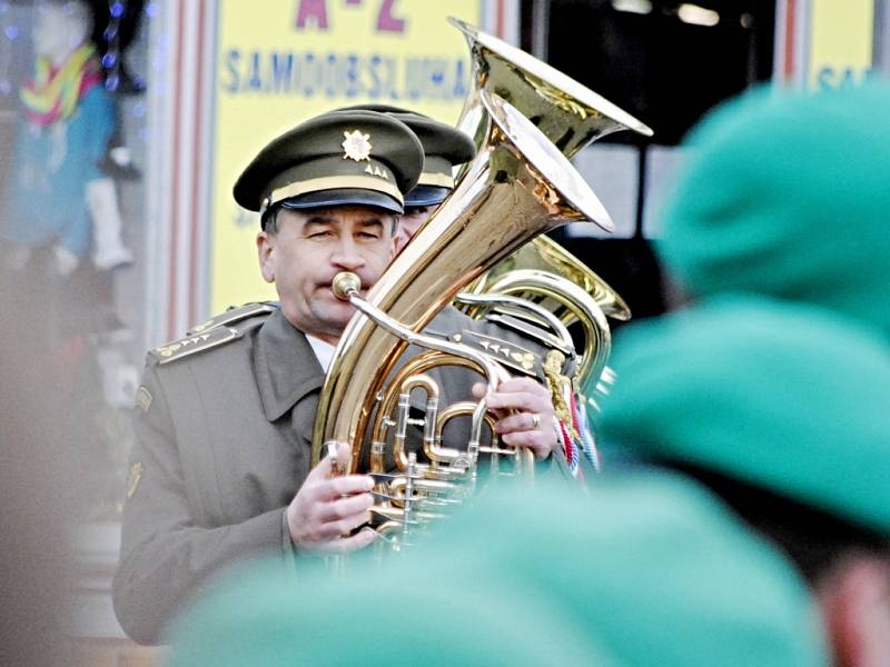
[[[714,298],[629,328],[601,435],[890,535],[890,352],[823,308]]]

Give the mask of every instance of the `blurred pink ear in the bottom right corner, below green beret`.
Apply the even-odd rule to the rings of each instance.
[[[819,584],[818,598],[839,667],[890,665],[890,563],[852,556]]]

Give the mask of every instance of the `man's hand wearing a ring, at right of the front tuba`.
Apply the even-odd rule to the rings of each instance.
[[[475,385],[473,394],[482,398],[485,385]],[[486,402],[497,417],[495,431],[502,442],[527,447],[537,460],[551,455],[558,436],[553,420],[553,400],[546,388],[531,378],[512,378],[490,394]],[[511,415],[511,410],[515,412]]]

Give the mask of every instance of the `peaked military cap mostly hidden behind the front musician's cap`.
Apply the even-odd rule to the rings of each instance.
[[[424,170],[417,187],[405,195],[406,207],[434,206],[454,189],[453,169],[476,155],[473,140],[444,122],[400,107],[389,104],[357,104],[346,109],[366,109],[386,113],[408,126],[424,147]]]

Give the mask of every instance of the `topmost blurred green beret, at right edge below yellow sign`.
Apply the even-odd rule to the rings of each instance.
[[[890,86],[761,89],[690,136],[661,258],[698,297],[763,293],[890,334]]]

